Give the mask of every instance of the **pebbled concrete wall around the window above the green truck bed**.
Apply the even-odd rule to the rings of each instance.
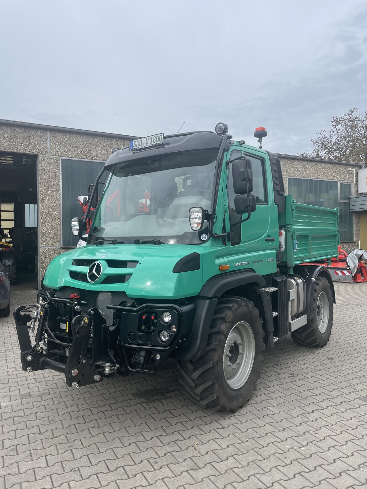
[[[354,182],[353,194],[357,195],[358,190],[358,170],[360,168],[341,163],[322,163],[320,161],[307,161],[298,159],[280,158],[285,192],[288,193],[288,177],[294,178],[320,178],[322,180],[337,180]],[[352,172],[348,168],[353,168]],[[352,250],[359,247],[360,222],[359,213],[352,213],[354,218],[354,242],[343,242],[345,250]]]

